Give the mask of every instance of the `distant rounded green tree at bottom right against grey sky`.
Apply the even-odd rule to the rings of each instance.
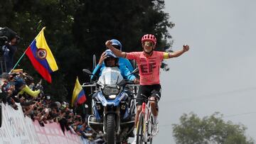
[[[214,113],[211,116],[199,118],[195,113],[183,114],[180,124],[173,125],[173,133],[178,144],[252,144],[247,140],[245,126],[225,122],[223,116]]]

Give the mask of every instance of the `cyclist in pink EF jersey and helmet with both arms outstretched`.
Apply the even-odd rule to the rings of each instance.
[[[155,51],[156,48],[156,37],[151,34],[146,34],[142,37],[142,52],[122,52],[117,50],[112,46],[112,42],[107,40],[105,43],[107,48],[110,48],[114,55],[117,57],[124,57],[129,60],[136,60],[139,67],[139,92],[137,98],[142,97],[142,94],[149,96],[149,99],[159,101],[161,98],[161,85],[159,80],[159,70],[161,62],[164,59],[169,59],[172,57],[178,57],[184,52],[189,50],[189,45],[183,45],[182,50],[177,50],[175,52],[160,52]],[[158,106],[157,102],[151,101],[151,111],[154,116],[153,120],[153,133],[156,135],[158,133]],[[142,111],[142,100],[137,100],[137,113],[135,116],[135,128],[137,126],[137,121],[139,113]],[[136,130],[135,130],[136,131]],[[136,142],[136,135],[134,138]]]

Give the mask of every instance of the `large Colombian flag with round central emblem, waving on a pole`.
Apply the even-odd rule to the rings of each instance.
[[[33,67],[41,74],[43,79],[51,83],[50,73],[58,70],[58,65],[46,43],[46,38],[43,34],[43,30],[45,29],[46,27],[43,27],[31,45],[28,46],[26,55],[28,55]]]

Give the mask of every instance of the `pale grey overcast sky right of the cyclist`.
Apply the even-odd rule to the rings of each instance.
[[[176,26],[169,32],[174,50],[185,55],[168,60],[161,72],[159,135],[154,143],[174,143],[171,124],[183,113],[223,113],[242,123],[256,140],[256,13],[254,0],[171,0],[166,13]],[[171,138],[171,139],[170,139]]]

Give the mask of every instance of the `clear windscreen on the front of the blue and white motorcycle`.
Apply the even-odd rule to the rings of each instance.
[[[99,78],[100,84],[115,85],[119,84],[123,79],[118,67],[105,67]]]

